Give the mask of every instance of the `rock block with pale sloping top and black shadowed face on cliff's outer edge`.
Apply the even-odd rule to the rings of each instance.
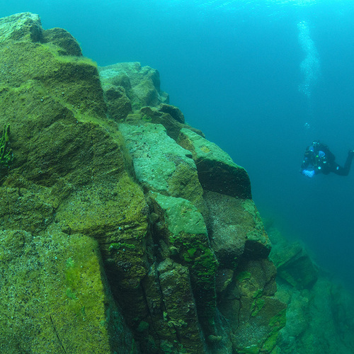
[[[181,130],[178,144],[192,153],[202,188],[236,198],[251,198],[246,170],[216,144],[188,129]]]

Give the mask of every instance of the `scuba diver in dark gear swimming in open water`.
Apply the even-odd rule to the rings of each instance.
[[[309,178],[317,173],[328,175],[330,172],[348,176],[353,157],[354,150],[349,150],[346,163],[341,167],[336,163],[336,157],[329,151],[329,147],[316,141],[306,148],[300,172]]]

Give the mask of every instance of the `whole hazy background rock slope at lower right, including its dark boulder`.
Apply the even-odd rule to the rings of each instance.
[[[354,353],[353,294],[332,282],[304,246],[267,229],[270,253],[278,267],[278,298],[287,304],[287,325],[280,330],[281,353]]]

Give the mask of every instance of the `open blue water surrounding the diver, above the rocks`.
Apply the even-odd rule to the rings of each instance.
[[[299,173],[313,139],[340,164],[354,149],[353,1],[13,0],[0,16],[23,11],[99,65],[159,69],[171,104],[249,172],[261,215],[354,288],[354,166]]]

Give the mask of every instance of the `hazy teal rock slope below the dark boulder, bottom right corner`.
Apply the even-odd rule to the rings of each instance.
[[[353,353],[353,293],[321,275],[303,290],[280,280],[278,297],[287,303],[281,353]]]

